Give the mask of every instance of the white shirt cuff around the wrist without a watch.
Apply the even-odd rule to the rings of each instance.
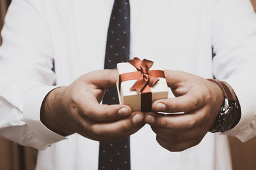
[[[45,127],[40,120],[42,102],[44,101],[45,96],[51,92],[51,90],[56,88],[56,86],[45,85],[32,87],[26,92],[23,99],[24,122],[26,122],[33,135],[38,138],[37,141],[40,142],[40,144],[38,143],[38,146],[42,149],[47,148],[47,146],[52,143],[67,139],[65,136],[52,132]]]

